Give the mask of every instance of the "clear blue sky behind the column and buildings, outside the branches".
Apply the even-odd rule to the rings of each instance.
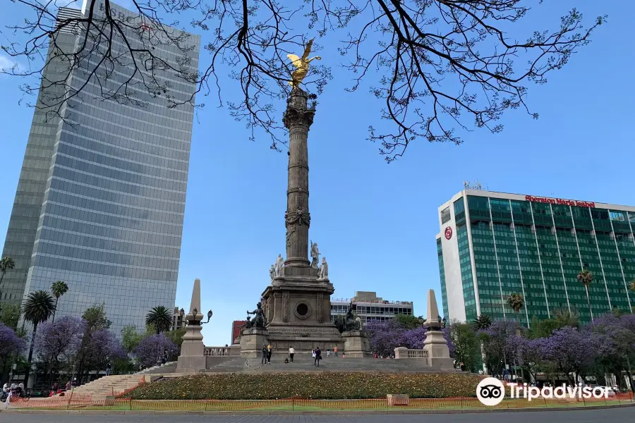
[[[628,124],[635,111],[635,55],[626,30],[635,5],[545,3],[519,24],[520,33],[555,28],[573,6],[589,22],[604,14],[608,22],[547,85],[530,86],[528,102],[540,119],[512,111],[500,134],[461,133],[465,142],[458,147],[417,141],[389,165],[379,146],[366,140],[368,125],[379,121],[380,102],[368,87],[344,92],[350,75],[338,66],[337,45],[320,51],[334,80],[320,96],[309,136],[310,238],[328,259],[334,298],[375,290],[388,300],[412,300],[416,314],[425,314],[425,295],[433,288],[440,304],[437,207],[461,190],[464,180],[478,179],[502,192],[635,204],[635,146]],[[6,4],[0,44],[13,37],[5,25],[21,19],[17,6]],[[205,54],[201,63],[207,63]],[[0,68],[6,63],[0,53]],[[0,75],[2,239],[32,118],[32,109],[18,106],[19,83]],[[176,305],[189,306],[193,280],[200,278],[202,309],[214,310],[203,330],[205,343],[224,345],[231,321],[255,307],[269,283],[270,265],[284,254],[287,157],[273,152],[265,137],[248,140],[243,123],[206,102],[193,129]]]

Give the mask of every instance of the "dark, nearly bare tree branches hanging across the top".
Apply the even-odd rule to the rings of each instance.
[[[40,93],[38,106],[47,114],[61,116],[68,100],[80,98],[87,85],[97,85],[103,99],[137,106],[144,106],[147,96],[164,97],[169,107],[194,104],[195,95],[208,96],[213,90],[219,106],[226,105],[231,116],[246,123],[252,140],[262,131],[278,151],[286,141],[276,105],[284,104],[293,71],[286,55],[301,51],[308,37],[298,28],[308,27],[320,37],[342,34],[342,69],[353,73],[347,90],[368,83],[370,92],[382,100],[380,116],[389,123],[381,127],[392,127],[387,132],[369,127],[369,139],[380,142],[380,153],[389,162],[417,138],[460,144],[457,127],[498,133],[500,118],[509,109],[522,108],[538,118],[526,104],[528,83],[545,83],[550,71],[561,69],[588,44],[591,32],[606,18],[585,27],[574,9],[556,30],[536,31],[519,41],[507,30],[528,18],[529,5],[537,6],[536,1],[133,0],[129,16],[116,12],[109,0],[87,0],[83,16],[59,21],[57,9],[66,4],[57,0],[15,2],[35,17],[11,29],[30,38],[2,48],[28,63],[39,59],[44,64],[4,72],[35,78],[52,62],[66,69],[59,78],[41,82],[46,95]],[[195,14],[191,27],[167,22],[179,13]],[[173,63],[155,53],[195,48],[190,35],[171,27],[205,34],[205,66],[188,59],[188,54]],[[80,35],[73,49],[59,42],[59,35],[68,31]],[[47,56],[49,49],[52,54]],[[132,75],[122,68],[133,69]],[[77,71],[83,75],[82,84],[71,81]],[[319,94],[331,78],[329,67],[311,66],[304,84]],[[195,92],[184,95],[179,83],[195,84]],[[240,87],[241,94],[224,101],[223,93],[231,86]],[[21,88],[35,94],[40,82]]]

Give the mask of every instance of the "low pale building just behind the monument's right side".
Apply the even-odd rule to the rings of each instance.
[[[362,324],[370,320],[389,320],[397,314],[412,316],[414,313],[412,301],[388,301],[377,297],[377,293],[373,291],[356,291],[353,298],[331,300],[331,321],[343,317],[351,302]]]

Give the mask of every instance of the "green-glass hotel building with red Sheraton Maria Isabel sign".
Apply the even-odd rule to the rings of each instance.
[[[583,322],[635,305],[635,207],[485,190],[463,190],[439,207],[437,254],[448,319],[547,319],[558,310]],[[587,294],[577,280],[593,272]],[[516,316],[507,305],[521,293]]]

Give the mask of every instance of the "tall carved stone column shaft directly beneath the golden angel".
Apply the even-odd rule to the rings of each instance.
[[[294,87],[282,121],[289,130],[289,185],[286,190],[286,260],[284,266],[308,267],[308,130],[315,108],[307,105],[308,95]]]

